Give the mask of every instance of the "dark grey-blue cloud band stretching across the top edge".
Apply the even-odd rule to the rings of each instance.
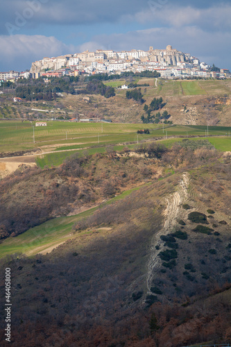
[[[171,24],[173,17],[182,8],[190,7],[194,17],[195,9],[220,8],[225,4],[230,5],[231,1],[219,3],[213,0],[8,0],[0,3],[0,33],[15,34],[19,33],[21,28],[36,27],[39,24],[78,26],[116,23],[124,19],[139,22],[142,21],[142,16],[143,20],[147,18],[148,22],[168,22],[171,19]],[[167,9],[170,9],[169,12]],[[209,18],[200,18],[200,23],[203,24],[207,19]]]

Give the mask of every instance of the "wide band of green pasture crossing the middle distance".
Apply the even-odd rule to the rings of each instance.
[[[69,121],[47,121],[46,127],[35,127],[34,125],[35,123],[29,121],[0,121],[0,152],[22,151],[48,145],[56,146],[57,148],[53,147],[55,151],[84,150],[107,146],[108,144],[124,146],[153,137],[204,137],[205,131],[207,132],[207,126],[168,124],[164,124],[164,129],[161,124],[71,123]],[[149,128],[150,134],[137,136],[137,130],[143,128]],[[35,144],[33,131],[35,132]],[[228,138],[230,132],[231,127],[209,126],[210,136]],[[217,141],[219,139],[216,139]],[[221,150],[229,151],[230,142],[227,142],[225,138],[221,142]],[[49,149],[46,148],[46,151]],[[92,151],[92,153],[96,153],[94,149]],[[57,155],[50,156],[53,158],[51,160],[53,164],[55,164],[56,158],[58,158],[57,163],[62,161],[67,152]],[[38,162],[40,162],[40,158],[38,158]]]

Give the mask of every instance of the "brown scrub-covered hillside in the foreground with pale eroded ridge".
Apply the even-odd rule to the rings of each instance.
[[[132,187],[139,189],[108,200]],[[9,251],[1,267],[12,269],[14,346],[230,341],[229,155],[200,142],[169,149],[143,144],[135,151],[74,155],[58,168],[18,171],[1,189],[15,229],[28,218],[26,199],[35,205],[35,225],[44,216],[73,214],[37,231],[5,235],[0,244],[0,251]],[[78,214],[105,198],[108,203]],[[58,235],[58,248],[10,255],[30,232],[28,255],[35,248],[39,253],[46,233]]]

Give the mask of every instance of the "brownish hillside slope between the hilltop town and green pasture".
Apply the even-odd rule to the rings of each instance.
[[[144,104],[150,104],[154,97],[162,97],[173,124],[230,126],[231,81],[189,80],[168,81],[162,78],[121,78],[103,81],[105,86],[115,88],[115,96],[105,98],[100,94],[84,94],[85,81],[74,85],[74,90],[83,92],[75,95],[63,93],[53,101],[22,101],[14,103],[13,94],[1,94],[1,119],[71,119],[78,117],[104,118],[113,122],[141,122]],[[141,87],[144,104],[126,99],[126,90],[117,87],[137,83]],[[148,86],[149,85],[149,86]],[[14,93],[10,90],[10,93]],[[33,110],[34,109],[34,110]],[[155,113],[155,112],[154,112]]]

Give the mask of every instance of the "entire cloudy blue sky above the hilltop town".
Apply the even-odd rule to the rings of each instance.
[[[231,69],[231,1],[7,0],[0,71],[89,49],[173,48]]]

